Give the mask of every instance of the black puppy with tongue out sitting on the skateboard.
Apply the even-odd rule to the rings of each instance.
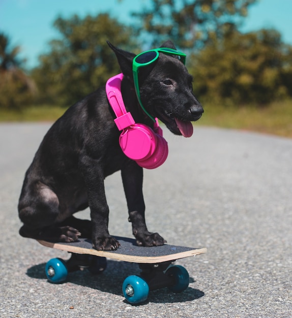
[[[124,74],[122,94],[127,111],[136,122],[153,127],[153,121],[139,106],[134,90],[132,61],[135,54],[108,45]],[[170,41],[162,47],[175,49]],[[192,77],[175,55],[160,53],[155,63],[141,68],[139,83],[144,108],[165,123],[173,134],[184,134],[183,122],[188,125],[203,113],[192,92]],[[108,233],[104,179],[121,170],[129,221],[137,244],[154,246],[166,242],[158,233],[147,229],[143,171],[122,152],[114,118],[102,87],[70,107],[52,125],[25,174],[18,205],[24,224],[20,235],[72,242],[82,233],[84,237],[92,237],[93,246],[98,250],[118,248],[119,242]],[[88,206],[91,221],[73,217],[75,212]]]

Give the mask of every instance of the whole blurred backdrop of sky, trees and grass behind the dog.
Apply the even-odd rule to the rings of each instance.
[[[196,124],[292,137],[290,0],[0,0],[0,121],[52,121],[119,73],[106,41],[187,54]]]

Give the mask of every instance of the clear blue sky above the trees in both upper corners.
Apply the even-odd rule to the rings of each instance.
[[[57,15],[67,18],[77,13],[96,15],[109,12],[122,22],[129,12],[138,11],[148,0],[0,0],[0,31],[20,45],[27,67],[35,66],[37,57],[45,52],[49,40],[57,36],[52,23]],[[250,8],[243,31],[273,27],[280,31],[283,41],[292,44],[292,0],[259,0]]]

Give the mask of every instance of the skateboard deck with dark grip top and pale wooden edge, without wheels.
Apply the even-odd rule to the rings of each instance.
[[[174,261],[207,252],[206,248],[192,248],[168,244],[144,247],[138,246],[135,239],[132,238],[118,236],[115,236],[115,238],[120,242],[121,247],[113,251],[98,251],[92,247],[91,240],[89,239],[79,239],[77,242],[72,243],[51,243],[41,240],[38,242],[47,247],[61,249],[72,253],[89,254],[124,262],[141,264],[156,264]]]

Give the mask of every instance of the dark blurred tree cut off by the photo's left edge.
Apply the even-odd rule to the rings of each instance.
[[[20,109],[35,96],[35,83],[22,70],[19,52],[20,47],[10,48],[9,37],[0,33],[0,108]]]

